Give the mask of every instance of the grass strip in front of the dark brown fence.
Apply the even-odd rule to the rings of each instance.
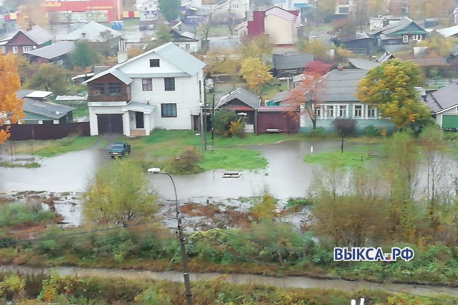
[[[17,154],[34,154],[40,157],[53,157],[70,151],[87,150],[91,148],[98,139],[98,136],[83,137],[80,135],[72,135],[58,140],[17,143],[13,149]],[[8,145],[6,147],[8,149]]]

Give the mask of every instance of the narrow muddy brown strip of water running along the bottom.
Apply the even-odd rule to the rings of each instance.
[[[80,277],[104,277],[104,278],[150,278],[170,282],[183,282],[183,273],[177,271],[153,272],[143,270],[120,270],[104,268],[76,268],[55,267],[52,268],[60,276],[77,275]],[[0,273],[16,271],[22,274],[50,274],[50,268],[33,268],[18,265],[0,266]],[[189,273],[191,281],[214,281],[223,273]],[[225,274],[226,281],[231,284],[257,284],[278,288],[315,288],[315,289],[338,289],[355,292],[360,289],[378,290],[384,289],[392,292],[403,292],[418,295],[448,294],[458,295],[458,289],[445,286],[425,286],[414,284],[377,284],[359,281],[345,281],[341,279],[316,279],[306,277],[266,277],[253,274]]]

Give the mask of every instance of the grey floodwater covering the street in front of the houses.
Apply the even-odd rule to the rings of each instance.
[[[243,171],[240,178],[223,178],[224,170],[174,176],[180,200],[205,201],[253,196],[268,188],[277,198],[301,197],[307,193],[317,166],[302,159],[310,153],[336,151],[340,140],[286,141],[249,147],[261,150],[267,169]],[[346,144],[349,147],[351,144]],[[218,147],[216,148],[218,149]],[[132,148],[135,154],[135,147]],[[107,150],[90,149],[38,160],[39,168],[0,167],[0,191],[82,192],[99,166],[110,162]],[[151,175],[151,185],[166,199],[174,199],[166,175]]]

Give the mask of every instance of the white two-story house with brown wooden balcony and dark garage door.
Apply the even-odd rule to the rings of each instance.
[[[91,135],[193,129],[202,102],[204,66],[166,43],[94,75],[84,82]]]

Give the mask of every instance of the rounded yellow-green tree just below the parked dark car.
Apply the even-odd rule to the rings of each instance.
[[[127,160],[98,170],[82,208],[86,220],[106,225],[150,219],[157,210],[158,196],[149,190],[146,171]]]

